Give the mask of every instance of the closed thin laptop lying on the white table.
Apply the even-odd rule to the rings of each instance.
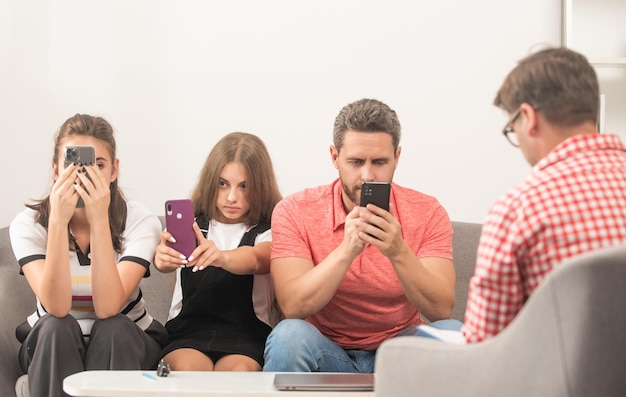
[[[281,372],[274,376],[274,387],[291,391],[371,391],[374,390],[374,374]]]

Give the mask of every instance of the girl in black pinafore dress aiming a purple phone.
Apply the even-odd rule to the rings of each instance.
[[[191,198],[197,248],[185,258],[165,231],[155,258],[159,270],[177,271],[164,361],[178,371],[259,371],[273,302],[269,222],[281,199],[263,141],[224,136]]]

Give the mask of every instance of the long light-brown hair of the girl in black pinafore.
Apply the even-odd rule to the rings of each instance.
[[[240,163],[246,170],[246,199],[250,210],[244,218],[247,225],[270,221],[281,195],[274,175],[272,160],[263,141],[253,134],[231,132],[220,139],[200,171],[198,183],[191,193],[196,214],[207,220],[217,218],[217,193],[220,173],[230,162]]]

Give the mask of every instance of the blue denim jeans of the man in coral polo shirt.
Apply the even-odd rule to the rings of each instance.
[[[441,320],[430,324],[442,329],[460,329],[459,321]],[[419,327],[410,327],[398,336],[419,336]],[[361,372],[373,373],[375,350],[345,350],[304,320],[283,320],[265,343],[267,372]]]

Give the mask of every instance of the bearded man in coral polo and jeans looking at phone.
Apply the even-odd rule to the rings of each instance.
[[[399,142],[387,105],[345,106],[330,147],[339,178],[276,206],[271,275],[286,320],[267,340],[265,371],[373,372],[378,346],[416,334],[422,316],[444,328],[454,321],[443,320],[455,283],[444,208],[395,183],[389,211],[359,206],[362,182],[392,181]]]

